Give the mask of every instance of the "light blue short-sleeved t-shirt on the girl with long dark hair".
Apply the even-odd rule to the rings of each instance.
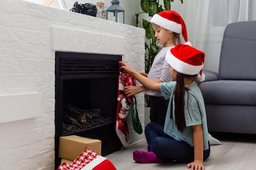
[[[202,97],[202,93],[198,88],[196,82],[191,83],[187,88],[189,88],[189,100],[188,93],[185,93],[185,121],[186,121],[186,130],[184,132],[180,132],[175,125],[175,113],[174,113],[174,90],[175,90],[176,82],[166,82],[160,83],[159,88],[165,99],[170,99],[173,97],[173,119],[170,118],[171,112],[171,99],[168,105],[168,110],[166,114],[165,124],[164,124],[164,132],[173,137],[173,139],[178,141],[185,141],[190,146],[194,146],[193,143],[193,128],[194,125],[202,124],[203,129],[203,139],[204,139],[204,150],[209,148],[208,141],[208,128],[207,128],[207,119],[206,112],[204,107],[204,99]],[[188,104],[187,104],[188,101]]]

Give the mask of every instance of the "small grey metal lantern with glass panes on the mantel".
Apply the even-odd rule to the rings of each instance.
[[[122,7],[119,6],[119,0],[112,0],[111,1],[111,6],[106,10],[107,11],[107,20],[108,20],[108,13],[112,12],[113,15],[111,16],[111,20],[115,21],[115,22],[120,22],[119,21],[119,17],[118,17],[118,13],[123,13],[123,23],[124,23],[124,9]]]

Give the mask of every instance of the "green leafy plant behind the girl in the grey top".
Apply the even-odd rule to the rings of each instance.
[[[163,5],[159,4],[159,0],[141,0],[140,5],[143,12],[141,13],[148,13],[149,17],[153,17],[156,13],[162,12],[164,10],[170,10],[171,9],[171,2],[174,2],[174,0],[163,0],[164,1],[164,8]],[[183,0],[180,0],[181,3],[183,3]],[[138,27],[139,24],[139,14],[135,14],[135,26]],[[151,25],[151,22],[148,22],[145,19],[142,19],[142,26],[146,31],[145,37],[148,39],[148,41],[145,41],[145,73],[148,73],[155,56],[157,55],[158,50],[160,49],[160,46],[158,46],[157,39],[155,38],[155,31],[153,30],[153,27]],[[145,105],[148,107],[150,106],[150,101],[148,99],[148,96],[145,95]]]

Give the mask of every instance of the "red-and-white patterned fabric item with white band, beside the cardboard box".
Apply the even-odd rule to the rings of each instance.
[[[71,164],[65,162],[58,166],[57,170],[117,170],[105,157],[92,150],[85,150]]]

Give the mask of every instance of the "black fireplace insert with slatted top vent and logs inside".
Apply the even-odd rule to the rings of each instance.
[[[78,135],[99,139],[102,156],[121,149],[121,143],[115,132],[118,61],[121,61],[120,55],[56,51],[56,165],[60,162],[58,144],[61,136]],[[85,117],[80,117],[81,120],[70,118],[68,109],[81,111],[80,113],[86,115],[83,114]]]

